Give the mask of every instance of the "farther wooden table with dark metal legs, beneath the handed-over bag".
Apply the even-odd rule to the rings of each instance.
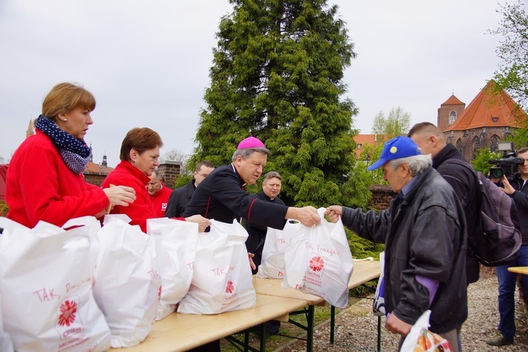
[[[379,278],[381,268],[379,261],[355,261],[352,276],[348,281],[348,289],[358,287],[367,281]],[[306,310],[307,315],[307,326],[296,324],[306,330],[306,351],[312,351],[313,348],[313,316],[314,307],[325,305],[325,299],[320,296],[313,294],[306,294],[298,289],[284,289],[282,288],[282,279],[261,279],[253,275],[253,287],[257,294],[267,294],[270,296],[282,296],[284,298],[301,299],[308,303],[308,309]],[[290,312],[298,313],[298,312]],[[305,311],[301,311],[305,313]],[[379,319],[378,319],[379,320]],[[330,308],[330,343],[334,343],[334,327],[335,327],[335,307]],[[378,327],[379,330],[379,327]],[[379,331],[378,331],[379,338]],[[379,345],[379,342],[378,342]]]

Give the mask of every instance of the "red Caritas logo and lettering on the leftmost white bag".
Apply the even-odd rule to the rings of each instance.
[[[79,304],[79,296],[69,296],[58,306],[55,329],[61,340],[67,340],[58,346],[59,351],[82,344],[89,339],[82,334],[84,325],[79,314]],[[81,335],[76,337],[77,334]]]

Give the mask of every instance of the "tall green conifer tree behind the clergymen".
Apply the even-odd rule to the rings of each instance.
[[[189,165],[228,164],[251,134],[270,149],[265,172],[282,175],[287,204],[365,206],[367,184],[351,174],[357,109],[343,98],[342,82],[356,53],[337,6],[326,0],[230,3],[234,11],[220,22]]]

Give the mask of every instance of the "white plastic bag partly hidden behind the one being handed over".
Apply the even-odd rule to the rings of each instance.
[[[284,252],[291,241],[298,236],[301,223],[287,221],[282,230],[268,228],[262,249],[262,261],[258,266],[257,278],[282,279],[284,276]]]

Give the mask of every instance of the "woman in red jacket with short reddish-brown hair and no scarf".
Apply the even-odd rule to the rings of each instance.
[[[127,185],[134,189],[136,200],[128,204],[128,207],[118,204],[111,209],[111,214],[126,214],[131,219],[130,224],[139,225],[144,232],[146,219],[156,218],[146,184],[151,181],[152,172],[159,166],[162,146],[163,142],[156,131],[147,127],[131,129],[121,143],[121,162],[101,184],[104,189],[111,188],[112,185]],[[189,216],[185,220],[198,223],[199,231],[210,226],[210,221],[200,215]]]

